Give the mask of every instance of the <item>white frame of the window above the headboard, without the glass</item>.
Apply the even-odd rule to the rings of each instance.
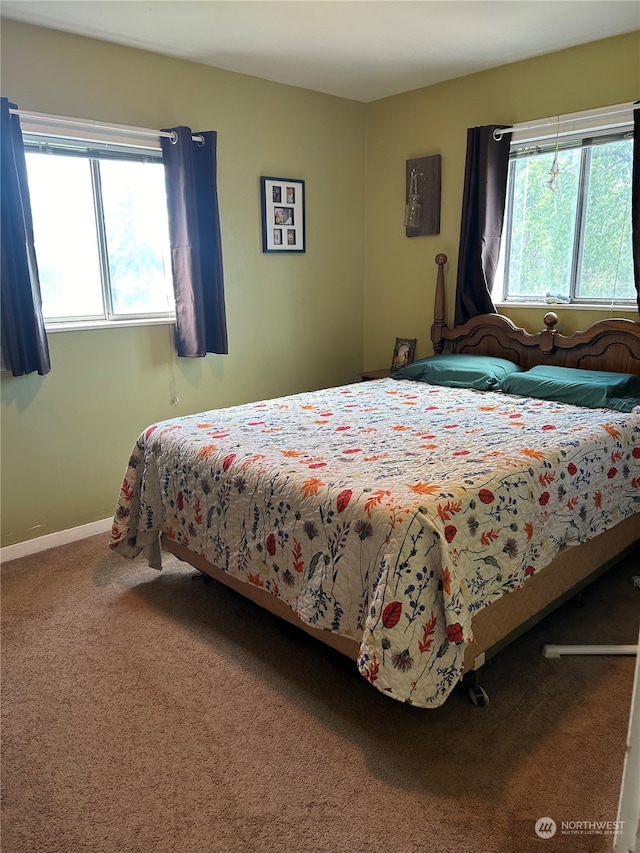
[[[614,109],[614,108],[612,108]],[[556,127],[553,127],[553,125]],[[577,120],[573,126],[564,132],[558,132],[559,127],[556,119],[542,120],[541,126],[546,126],[544,130],[537,134],[532,133],[530,128],[517,132],[514,128],[514,133],[511,139],[510,154],[509,154],[509,170],[507,175],[507,187],[505,197],[505,212],[502,228],[502,239],[500,244],[500,259],[498,270],[496,273],[494,294],[495,302],[502,306],[521,306],[521,307],[548,307],[549,305],[557,304],[562,308],[577,308],[577,309],[598,309],[615,307],[620,310],[633,310],[636,300],[633,296],[628,298],[620,298],[615,296],[607,296],[605,298],[584,297],[576,294],[576,289],[579,285],[578,271],[581,269],[582,257],[584,252],[584,236],[587,224],[586,205],[588,203],[588,189],[591,178],[590,164],[593,157],[594,149],[602,144],[622,139],[633,138],[633,115],[624,121],[612,122],[610,125],[594,126],[588,122],[580,122]],[[551,127],[551,130],[549,129]],[[528,130],[528,132],[527,132]],[[553,158],[553,153],[556,145],[558,150],[567,150],[569,148],[580,152],[580,178],[576,199],[576,216],[574,222],[574,234],[572,238],[572,254],[571,254],[571,271],[569,279],[569,300],[568,302],[561,300],[549,300],[544,297],[526,295],[514,295],[509,298],[508,295],[508,267],[509,257],[507,256],[507,247],[509,246],[512,229],[513,229],[513,201],[516,176],[513,165],[518,159],[531,156],[532,153],[549,154]],[[631,228],[631,223],[629,224]]]

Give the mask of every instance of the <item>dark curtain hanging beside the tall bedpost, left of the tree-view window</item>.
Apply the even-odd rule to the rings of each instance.
[[[500,255],[507,194],[511,133],[496,141],[493,131],[504,125],[470,127],[462,197],[455,323],[476,314],[495,314],[491,299]]]

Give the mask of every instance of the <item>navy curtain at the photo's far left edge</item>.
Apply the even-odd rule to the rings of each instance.
[[[38,263],[20,119],[0,99],[0,195],[2,196],[2,352],[14,376],[51,370],[42,316]]]

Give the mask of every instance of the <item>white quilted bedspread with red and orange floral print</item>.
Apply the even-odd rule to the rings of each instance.
[[[165,531],[436,707],[477,610],[637,512],[640,416],[383,379],[150,426],[110,545]]]

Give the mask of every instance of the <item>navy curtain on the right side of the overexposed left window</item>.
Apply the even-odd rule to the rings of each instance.
[[[169,208],[176,348],[201,358],[229,352],[217,189],[217,133],[166,128],[161,137]]]

